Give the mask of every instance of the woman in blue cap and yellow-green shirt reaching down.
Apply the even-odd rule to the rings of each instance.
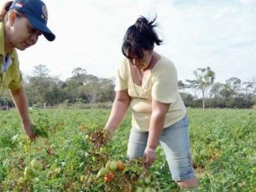
[[[10,89],[24,130],[31,140],[35,140],[36,134],[31,129],[15,48],[23,51],[35,45],[42,34],[47,40],[54,40],[55,35],[47,28],[47,18],[47,8],[40,0],[8,1],[0,12],[0,97],[4,89]]]

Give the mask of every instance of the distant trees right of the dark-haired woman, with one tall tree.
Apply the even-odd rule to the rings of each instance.
[[[225,83],[215,82],[211,67],[197,68],[194,79],[179,81],[180,95],[187,107],[193,108],[252,108],[256,104],[256,79],[242,82],[230,77]],[[200,93],[200,97],[191,91]]]

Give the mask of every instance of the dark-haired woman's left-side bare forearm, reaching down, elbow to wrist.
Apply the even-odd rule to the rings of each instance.
[[[104,129],[107,129],[111,133],[115,132],[118,125],[124,118],[127,109],[129,108],[129,103],[130,102],[115,100],[111,109],[111,114],[109,116],[108,122]]]

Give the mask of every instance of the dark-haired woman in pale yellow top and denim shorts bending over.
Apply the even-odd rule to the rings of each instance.
[[[112,135],[129,108],[132,129],[127,156],[143,156],[145,167],[156,159],[160,142],[173,180],[181,188],[198,186],[189,147],[188,118],[172,61],[154,51],[163,41],[157,36],[155,19],[140,17],[127,29],[122,45],[125,56],[116,76],[116,97],[108,123]]]

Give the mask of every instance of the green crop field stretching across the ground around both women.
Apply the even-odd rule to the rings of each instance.
[[[31,119],[47,130],[48,140],[38,138],[31,144],[29,157],[26,136],[16,111],[0,112],[0,191],[86,191],[84,156],[90,149],[81,127],[101,129],[109,109],[33,110]],[[200,188],[195,191],[256,191],[256,111],[234,109],[188,109],[191,150]],[[109,156],[125,161],[131,114],[109,143]],[[79,129],[80,127],[80,129]],[[86,159],[87,158],[87,159]],[[20,188],[30,159],[44,164],[44,177]],[[180,191],[172,181],[161,148],[150,168],[163,191]],[[154,186],[154,183],[152,183]],[[104,182],[90,186],[103,191]],[[87,190],[88,191],[88,190]]]

